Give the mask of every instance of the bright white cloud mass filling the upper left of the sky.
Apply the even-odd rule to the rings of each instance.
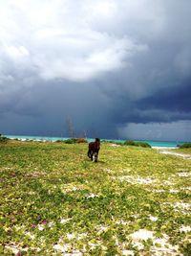
[[[0,55],[13,61],[3,65],[2,74],[16,65],[17,72],[35,70],[45,80],[87,81],[122,68],[129,56],[145,50],[126,36],[100,33],[87,24],[92,17],[112,15],[116,1],[10,0],[2,5]]]

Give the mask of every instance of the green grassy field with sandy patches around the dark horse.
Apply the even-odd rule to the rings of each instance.
[[[190,171],[153,149],[0,144],[0,255],[190,256]]]

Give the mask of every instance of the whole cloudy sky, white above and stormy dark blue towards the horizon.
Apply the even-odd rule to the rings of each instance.
[[[190,0],[0,0],[0,133],[191,141]]]

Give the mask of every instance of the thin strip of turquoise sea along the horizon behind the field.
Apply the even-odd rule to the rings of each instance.
[[[66,140],[69,138],[61,138],[61,137],[45,137],[45,136],[25,136],[25,135],[6,135],[8,138],[11,139],[21,139],[21,140],[39,140],[39,141],[57,141],[57,140]],[[95,139],[88,139],[88,141],[94,141]],[[124,142],[125,140],[107,140],[107,141],[114,141],[114,142]],[[137,140],[135,140],[138,142]],[[167,148],[175,148],[177,145],[183,144],[185,142],[182,141],[141,141],[147,142],[151,145],[151,147],[167,147]]]

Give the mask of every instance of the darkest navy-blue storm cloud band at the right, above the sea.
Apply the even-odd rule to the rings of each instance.
[[[113,118],[123,124],[173,122],[191,119],[190,80],[179,86],[168,86],[156,90],[151,96],[133,100],[128,94],[117,97],[118,107],[113,109]]]

